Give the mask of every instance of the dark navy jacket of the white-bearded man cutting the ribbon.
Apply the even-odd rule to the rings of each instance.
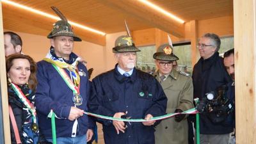
[[[117,66],[117,65],[116,65]],[[157,80],[134,68],[131,77],[122,76],[117,68],[93,79],[97,95],[90,98],[89,108],[99,115],[113,116],[127,111],[131,118],[164,115],[166,96]],[[106,144],[154,144],[154,126],[141,122],[127,124],[125,133],[116,134],[110,120],[100,120]]]

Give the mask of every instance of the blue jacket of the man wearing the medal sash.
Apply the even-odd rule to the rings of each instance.
[[[58,74],[56,69],[51,63],[47,61],[39,61],[37,63],[37,80],[38,85],[36,89],[36,111],[38,114],[38,123],[40,125],[40,131],[46,138],[52,138],[51,132],[51,118],[47,118],[50,110],[52,109],[56,113],[56,135],[57,137],[71,137],[72,126],[74,121],[68,120],[71,106],[74,106],[72,102],[73,92],[68,88],[63,78]],[[77,106],[84,111],[88,110],[87,101],[88,95],[90,95],[90,84],[88,83],[87,69],[82,63],[77,65],[80,74],[80,93],[83,97],[83,104]],[[66,70],[69,74],[68,70]],[[61,119],[60,119],[61,118]],[[93,122],[88,116],[83,115],[78,120],[76,136],[86,134],[87,129],[93,129]]]

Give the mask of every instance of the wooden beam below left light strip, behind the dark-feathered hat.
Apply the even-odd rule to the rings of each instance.
[[[42,35],[45,37],[50,33],[52,24],[56,22],[56,20],[28,12],[26,10],[21,10],[8,4],[3,5],[3,19],[4,29]],[[20,25],[17,24],[17,27],[15,27],[13,26],[15,23],[24,24],[26,26],[20,27]],[[86,42],[92,42],[93,44],[103,46],[106,45],[106,36],[98,35],[96,33],[77,28],[76,26],[74,26],[74,33]]]

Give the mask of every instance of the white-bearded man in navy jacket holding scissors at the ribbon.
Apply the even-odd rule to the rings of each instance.
[[[93,79],[95,95],[89,100],[93,113],[114,118],[149,120],[165,114],[166,96],[157,80],[135,68],[136,52],[131,36],[116,39],[113,53],[117,64],[113,70]],[[154,144],[156,121],[120,122],[98,119],[103,126],[106,144]]]

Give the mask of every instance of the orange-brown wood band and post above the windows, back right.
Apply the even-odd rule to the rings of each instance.
[[[219,36],[233,36],[234,22],[233,16],[218,17],[207,20],[191,20],[184,24],[184,38],[171,35],[173,43],[191,42],[192,65],[200,58],[196,49],[198,38],[204,33],[216,33]],[[132,37],[136,46],[156,45],[167,43],[167,33],[157,28],[142,29],[132,31]]]

